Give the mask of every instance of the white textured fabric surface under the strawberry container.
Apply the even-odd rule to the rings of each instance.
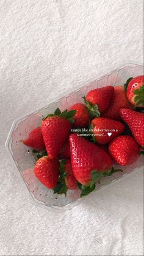
[[[1,0],[0,255],[143,255],[143,174],[62,212],[32,202],[4,149],[12,122],[126,60],[142,0]]]

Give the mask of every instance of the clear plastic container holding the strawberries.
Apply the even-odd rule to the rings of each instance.
[[[43,109],[39,109],[32,114],[20,117],[13,122],[12,128],[10,129],[9,136],[5,142],[5,147],[9,152],[10,157],[14,161],[18,172],[20,172],[21,177],[26,184],[32,198],[35,202],[45,205],[47,207],[62,209],[76,202],[77,200],[82,200],[80,198],[80,192],[68,191],[67,197],[64,195],[53,194],[51,189],[46,188],[44,185],[37,180],[33,173],[33,167],[35,163],[34,156],[32,155],[32,149],[26,147],[21,143],[21,139],[29,136],[29,133],[41,123],[43,115],[54,112],[56,108],[61,110],[70,108],[70,106],[77,102],[83,102],[82,96],[84,96],[88,91],[103,87],[106,85],[123,85],[126,79],[131,76],[137,76],[143,74],[143,66],[140,64],[125,64],[110,73],[102,76],[88,83],[86,86],[82,86],[80,89],[75,90],[65,97],[60,98],[54,103],[45,106]],[[129,174],[130,172],[143,166],[143,158],[139,157],[137,163],[132,166],[123,167],[123,174],[117,173],[113,174],[112,177],[103,178],[101,184],[96,186],[96,190],[92,192],[90,196],[96,196],[96,191],[102,187],[112,183],[112,181],[118,180],[123,175]]]

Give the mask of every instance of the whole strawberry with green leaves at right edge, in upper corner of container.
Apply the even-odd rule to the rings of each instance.
[[[137,108],[144,107],[144,76],[129,78],[124,86],[129,102]]]

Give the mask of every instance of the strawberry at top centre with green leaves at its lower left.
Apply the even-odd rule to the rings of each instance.
[[[84,97],[85,104],[90,111],[91,117],[99,117],[106,111],[113,96],[113,86],[106,86],[90,90]]]

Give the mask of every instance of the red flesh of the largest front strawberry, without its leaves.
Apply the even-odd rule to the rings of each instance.
[[[77,134],[70,135],[70,148],[73,173],[82,185],[90,185],[92,170],[104,172],[112,168],[112,161],[104,150]]]

